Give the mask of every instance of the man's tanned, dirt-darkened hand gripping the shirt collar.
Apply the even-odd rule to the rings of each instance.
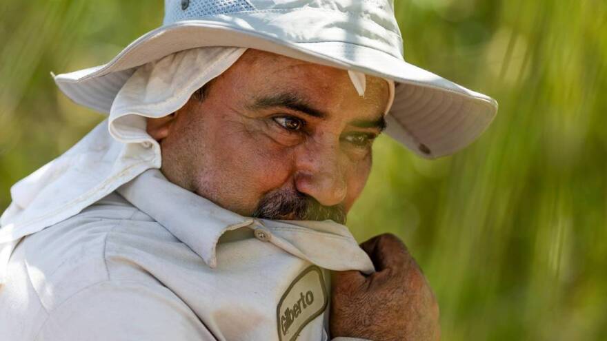
[[[332,278],[332,337],[374,341],[435,341],[439,307],[407,248],[392,234],[361,244],[377,272],[335,272]]]

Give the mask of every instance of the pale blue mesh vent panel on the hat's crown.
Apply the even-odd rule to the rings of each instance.
[[[190,0],[185,2],[183,3],[182,0],[165,1],[165,24],[213,14],[255,10],[247,0]]]

